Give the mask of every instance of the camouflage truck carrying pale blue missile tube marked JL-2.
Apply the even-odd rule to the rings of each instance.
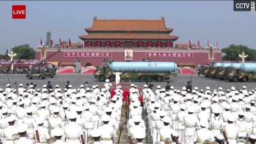
[[[115,81],[113,72],[122,72],[121,80],[139,80],[140,82],[150,82],[156,80],[161,82],[176,77],[174,73],[177,69],[175,62],[110,62],[104,66],[96,67],[94,77],[101,82],[108,78],[111,82]]]

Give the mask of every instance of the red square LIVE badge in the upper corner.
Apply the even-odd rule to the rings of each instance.
[[[26,5],[12,5],[13,19],[26,19]]]

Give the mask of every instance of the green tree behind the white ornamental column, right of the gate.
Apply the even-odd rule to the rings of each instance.
[[[256,50],[247,46],[231,44],[229,47],[221,49],[221,51],[225,54],[222,57],[224,61],[241,61],[242,59],[238,55],[243,51],[246,55],[248,54],[245,61],[256,61]]]

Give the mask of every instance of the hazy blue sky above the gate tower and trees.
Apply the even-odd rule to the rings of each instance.
[[[12,5],[26,4],[26,19],[12,19]],[[51,31],[58,38],[82,42],[78,36],[99,19],[160,19],[179,36],[175,43],[202,46],[244,44],[255,47],[256,14],[234,12],[233,1],[0,1],[0,53],[21,44],[36,48]]]

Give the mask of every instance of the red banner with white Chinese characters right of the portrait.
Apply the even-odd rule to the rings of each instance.
[[[193,52],[145,52],[145,57],[186,57],[193,58]]]

